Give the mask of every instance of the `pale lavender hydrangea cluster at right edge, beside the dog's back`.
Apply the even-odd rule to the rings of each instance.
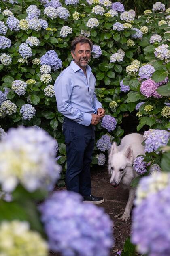
[[[148,131],[144,132],[143,137],[145,139],[144,151],[155,151],[157,153],[159,147],[166,146],[170,138],[170,134],[166,130],[149,129]]]

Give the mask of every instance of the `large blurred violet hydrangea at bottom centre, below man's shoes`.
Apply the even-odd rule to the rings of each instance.
[[[83,204],[81,195],[66,190],[54,192],[39,208],[53,251],[63,256],[109,255],[113,225],[102,208]]]

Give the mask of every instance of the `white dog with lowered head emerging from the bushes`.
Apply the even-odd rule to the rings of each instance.
[[[132,165],[138,155],[144,155],[142,142],[143,137],[138,133],[126,135],[121,140],[119,146],[115,142],[113,143],[108,157],[108,172],[111,176],[111,185],[117,187],[121,183],[124,187],[129,188],[129,198],[123,216],[121,217],[122,221],[128,220],[133,206],[135,189],[130,187],[130,183],[138,174],[134,171]]]

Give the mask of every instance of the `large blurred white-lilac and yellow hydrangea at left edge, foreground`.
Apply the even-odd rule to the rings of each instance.
[[[60,172],[55,147],[56,140],[45,130],[21,126],[8,130],[0,142],[2,189],[11,192],[21,183],[30,192],[52,190]]]

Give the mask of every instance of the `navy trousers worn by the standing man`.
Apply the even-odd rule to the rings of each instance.
[[[94,150],[94,126],[84,126],[64,117],[67,170],[66,187],[83,196],[91,195],[90,163]]]

